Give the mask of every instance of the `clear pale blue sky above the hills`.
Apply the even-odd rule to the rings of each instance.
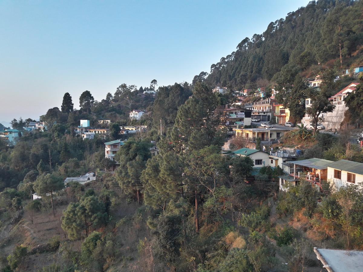
[[[122,83],[191,82],[309,0],[0,1],[0,123]]]

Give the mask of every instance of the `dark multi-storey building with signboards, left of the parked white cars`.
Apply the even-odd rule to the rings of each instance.
[[[221,116],[222,127],[227,128],[227,134],[234,134],[234,128],[251,125],[251,110],[246,108],[229,108]]]

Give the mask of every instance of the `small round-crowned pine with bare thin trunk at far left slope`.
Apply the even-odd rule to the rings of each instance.
[[[41,195],[46,195],[50,193],[50,201],[52,202],[52,210],[53,216],[56,216],[54,213],[53,206],[53,192],[58,191],[64,188],[64,183],[61,177],[57,177],[53,174],[41,174],[37,177],[36,182],[33,186],[34,190]]]

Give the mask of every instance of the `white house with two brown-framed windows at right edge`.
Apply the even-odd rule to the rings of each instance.
[[[331,162],[328,166],[328,180],[333,182],[335,189],[342,186],[363,186],[363,164],[355,161],[339,160]]]

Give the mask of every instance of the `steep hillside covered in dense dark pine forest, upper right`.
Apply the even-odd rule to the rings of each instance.
[[[256,81],[270,81],[285,65],[313,73],[327,65],[341,69],[360,64],[362,8],[363,1],[310,1],[285,19],[271,22],[264,33],[244,38],[236,51],[211,65],[209,75],[201,72],[194,82],[260,87]]]

